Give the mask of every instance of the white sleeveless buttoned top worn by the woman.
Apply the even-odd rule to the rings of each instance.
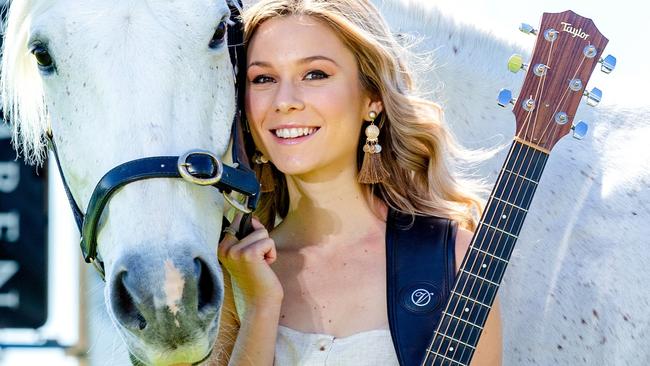
[[[337,338],[278,326],[274,366],[399,366],[388,329]]]

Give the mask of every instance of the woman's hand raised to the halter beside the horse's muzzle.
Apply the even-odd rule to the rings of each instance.
[[[231,227],[237,228],[240,220],[241,216]],[[230,273],[236,297],[242,297],[238,300],[243,300],[244,312],[279,307],[284,296],[282,285],[270,266],[277,257],[275,243],[257,219],[253,218],[252,223],[254,231],[242,240],[226,233],[217,251],[219,261]]]

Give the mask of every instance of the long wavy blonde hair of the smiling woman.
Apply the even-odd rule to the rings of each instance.
[[[242,14],[245,42],[266,20],[286,16],[310,16],[334,30],[356,56],[362,86],[383,102],[379,138],[390,177],[367,185],[368,199],[378,197],[411,215],[450,218],[474,230],[483,209],[476,194],[480,184],[452,175],[448,164],[464,150],[443,125],[440,106],[416,90],[407,67],[410,51],[397,43],[379,11],[368,0],[261,0]],[[360,133],[360,157],[363,141]],[[256,212],[269,228],[289,207],[284,176],[272,168],[275,189],[262,195]]]

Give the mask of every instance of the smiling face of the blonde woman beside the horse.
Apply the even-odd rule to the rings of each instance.
[[[246,111],[257,148],[288,175],[356,171],[362,121],[379,112],[354,54],[308,16],[262,23],[248,45]]]

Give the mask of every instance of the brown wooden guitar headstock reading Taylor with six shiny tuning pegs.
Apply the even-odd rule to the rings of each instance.
[[[535,49],[529,66],[521,56],[510,58],[510,71],[527,69],[526,78],[516,101],[502,90],[499,104],[514,104],[517,139],[550,151],[572,129],[576,137],[584,136],[586,125],[573,121],[580,100],[586,96],[591,106],[600,102],[602,92],[586,91],[587,83],[599,62],[609,73],[616,58],[601,59],[607,38],[591,19],[570,10],[544,13],[539,31],[525,24],[520,30],[537,36]]]

